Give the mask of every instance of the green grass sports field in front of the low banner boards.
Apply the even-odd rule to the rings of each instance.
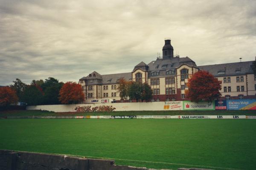
[[[256,169],[253,119],[0,119],[0,149],[173,169]]]

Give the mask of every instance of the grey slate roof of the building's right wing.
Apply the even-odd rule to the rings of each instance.
[[[253,74],[251,65],[253,61],[246,62],[233,62],[225,64],[215,64],[215,65],[201,65],[198,66],[200,70],[205,70],[214,75],[214,77],[223,76],[236,76],[244,74]],[[219,71],[223,71],[224,74],[218,74]]]

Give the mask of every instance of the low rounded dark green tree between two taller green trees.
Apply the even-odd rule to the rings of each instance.
[[[23,93],[22,101],[27,105],[43,105],[43,90],[38,85],[28,85]]]

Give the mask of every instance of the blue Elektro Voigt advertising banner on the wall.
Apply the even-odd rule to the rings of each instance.
[[[256,110],[256,99],[227,100],[227,110]]]

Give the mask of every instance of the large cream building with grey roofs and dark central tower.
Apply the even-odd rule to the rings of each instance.
[[[148,83],[153,91],[152,102],[181,101],[188,100],[185,89],[189,76],[205,70],[222,81],[222,99],[252,99],[256,98],[256,77],[252,63],[253,61],[197,66],[189,57],[174,56],[171,40],[165,40],[163,57],[157,57],[148,64],[140,62],[129,73],[101,75],[94,71],[79,79],[79,84],[84,89],[85,103],[99,102],[101,99],[119,102],[119,79]]]

